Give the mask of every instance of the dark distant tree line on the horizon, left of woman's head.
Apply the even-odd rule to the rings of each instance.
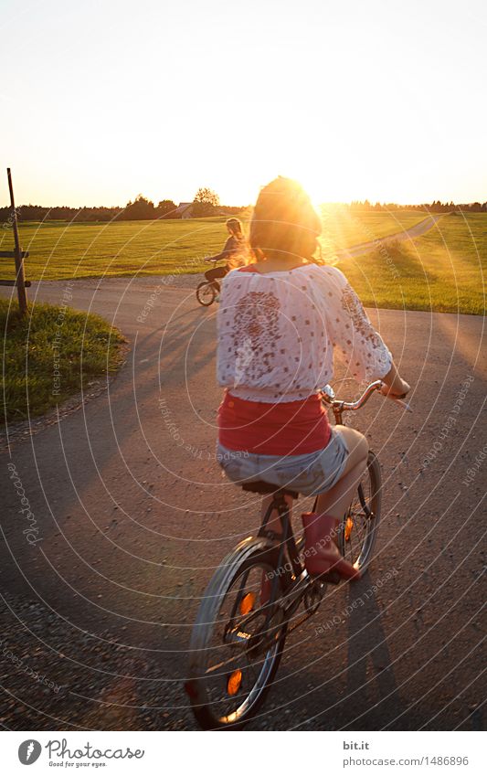
[[[243,207],[220,205],[219,197],[210,188],[198,188],[191,204],[192,218],[207,218],[220,214],[236,215]],[[0,207],[0,223],[8,222],[10,207]],[[23,221],[153,221],[159,218],[182,218],[183,213],[172,199],[162,199],[157,205],[139,194],[125,207],[16,207],[17,218]]]

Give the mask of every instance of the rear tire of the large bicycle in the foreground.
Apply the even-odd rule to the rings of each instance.
[[[237,709],[229,715],[219,715],[217,713],[211,700],[211,691],[208,688],[207,664],[208,655],[213,649],[210,643],[214,633],[217,631],[218,615],[234,583],[249,569],[261,569],[263,566],[276,569],[276,560],[277,550],[269,539],[250,537],[229,553],[206,587],[191,635],[189,645],[189,679],[185,684],[196,721],[199,727],[204,730],[235,730],[244,727],[251,718],[255,717],[256,712],[269,693],[270,686],[281,663],[288,626],[285,620],[282,620],[276,632],[274,646],[269,650],[269,653],[272,652],[270,658],[268,658],[269,653],[266,653],[262,660],[262,668],[259,673],[260,683],[255,696],[244,709],[240,711]],[[283,579],[281,577],[278,577],[278,579],[278,590],[279,595],[281,595],[284,587]],[[264,671],[265,673],[263,673]],[[215,677],[218,680],[219,676],[224,676],[223,670],[219,673],[211,674],[210,679]],[[256,682],[256,686],[257,684]],[[245,706],[246,702],[247,698],[241,706]]]

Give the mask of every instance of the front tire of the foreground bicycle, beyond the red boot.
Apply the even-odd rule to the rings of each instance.
[[[353,547],[350,547],[350,539],[346,539],[346,524],[347,518],[351,516],[354,511],[355,501],[352,503],[347,514],[344,516],[344,520],[339,526],[338,534],[338,547],[340,552],[347,560],[354,563],[355,568],[365,571],[373,558],[374,547],[376,545],[376,537],[378,526],[380,524],[380,514],[382,507],[382,476],[380,473],[380,464],[374,452],[370,451],[367,459],[367,469],[360,484],[364,484],[368,481],[369,484],[369,497],[367,507],[369,508],[371,515],[367,517],[363,505],[361,505],[361,511],[365,517],[362,517],[365,526],[364,537],[360,543],[360,551],[356,554]],[[357,494],[360,502],[360,496]],[[366,500],[367,501],[367,500]],[[351,534],[353,533],[352,528]]]

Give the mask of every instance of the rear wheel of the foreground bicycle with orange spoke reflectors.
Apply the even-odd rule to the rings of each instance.
[[[276,555],[268,539],[246,539],[225,558],[206,588],[192,633],[185,686],[201,728],[242,727],[269,691],[287,632],[279,606],[279,576],[270,601],[260,601],[262,575],[275,578]]]

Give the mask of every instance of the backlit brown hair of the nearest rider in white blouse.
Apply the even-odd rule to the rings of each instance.
[[[261,189],[249,235],[258,259],[279,254],[311,261],[321,231],[311,199],[297,181],[280,176]]]

